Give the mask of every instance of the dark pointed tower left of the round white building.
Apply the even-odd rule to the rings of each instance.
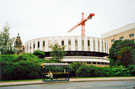
[[[24,46],[22,45],[22,41],[19,33],[15,40],[15,49],[16,49],[16,54],[20,54],[24,52]]]

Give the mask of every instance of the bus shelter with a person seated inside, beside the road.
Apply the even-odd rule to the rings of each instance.
[[[67,63],[43,63],[42,81],[69,81],[69,64]]]

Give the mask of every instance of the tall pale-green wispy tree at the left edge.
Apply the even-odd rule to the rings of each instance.
[[[0,32],[0,54],[13,54],[14,49],[14,38],[10,38],[9,34],[10,27],[5,25],[3,31]]]

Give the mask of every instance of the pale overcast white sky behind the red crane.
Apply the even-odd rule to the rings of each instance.
[[[81,26],[67,31],[90,13],[85,34],[102,34],[135,22],[135,0],[0,0],[0,31],[8,24],[10,36],[22,42],[50,36],[80,36]]]

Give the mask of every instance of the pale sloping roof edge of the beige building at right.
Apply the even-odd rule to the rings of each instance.
[[[121,32],[125,32],[125,31],[128,31],[128,30],[131,30],[135,28],[135,22],[134,23],[130,23],[128,25],[125,25],[125,26],[122,26],[120,28],[117,28],[115,30],[112,30],[110,32],[107,32],[107,33],[104,33],[101,35],[102,38],[106,38],[106,37],[109,37],[109,36],[112,36],[112,35],[115,35],[115,34],[118,34],[118,33],[121,33]]]

